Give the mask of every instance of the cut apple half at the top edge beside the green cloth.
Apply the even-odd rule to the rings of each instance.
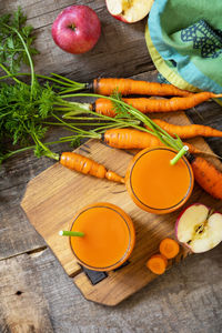
[[[107,0],[108,11],[125,23],[142,20],[150,12],[154,0]]]

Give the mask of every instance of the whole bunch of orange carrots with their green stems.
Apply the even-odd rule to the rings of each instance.
[[[56,75],[56,74],[54,74]],[[57,77],[56,77],[57,78]],[[48,78],[49,80],[49,78]],[[51,80],[56,80],[52,78]],[[57,79],[58,81],[58,79]],[[58,81],[60,82],[60,81]],[[58,83],[57,82],[57,83]],[[89,114],[95,117],[95,119],[102,119],[105,122],[110,121],[110,123],[101,123],[93,124],[95,129],[93,131],[84,131],[80,130],[78,127],[74,127],[72,123],[64,123],[61,120],[61,117],[57,117],[56,113],[51,112],[54,119],[59,121],[59,125],[69,127],[73,132],[78,132],[78,135],[67,137],[62,141],[72,141],[75,137],[78,138],[94,138],[99,140],[103,140],[107,144],[119,148],[119,149],[143,149],[148,147],[157,147],[167,144],[175,150],[180,150],[183,145],[182,139],[193,138],[194,135],[216,135],[221,137],[220,131],[215,131],[209,127],[201,125],[192,125],[192,127],[174,127],[172,124],[168,124],[160,120],[151,121],[145,114],[142,112],[155,112],[155,111],[176,111],[180,109],[188,109],[196,105],[198,103],[205,101],[210,98],[219,98],[220,94],[213,94],[211,92],[202,92],[202,93],[190,93],[184,90],[180,90],[171,84],[161,84],[157,82],[145,82],[145,81],[135,81],[131,79],[95,79],[93,81],[93,93],[73,93],[77,91],[79,85],[77,87],[77,82],[69,80],[69,89],[61,90],[61,92],[56,97],[56,104],[53,105],[54,112],[63,112],[63,118],[69,119],[69,114],[73,114],[74,117],[70,117],[70,119],[75,119],[77,114],[83,113],[84,119],[90,119]],[[90,84],[83,84],[84,88],[90,88]],[[82,89],[82,85],[80,85]],[[174,95],[172,99],[118,99],[114,94],[113,97],[109,97],[113,92],[120,93],[121,95],[129,94],[147,94],[147,95]],[[71,92],[71,93],[70,93]],[[94,104],[87,103],[77,103],[67,101],[67,99],[77,97],[93,97],[97,99]],[[119,114],[118,108],[121,109],[123,115]],[[95,112],[94,112],[94,111]],[[142,112],[140,112],[140,110]],[[121,111],[121,112],[122,112]],[[50,114],[51,114],[50,113]],[[129,119],[128,119],[129,115]],[[91,118],[92,119],[92,118]],[[50,122],[44,122],[46,124],[51,124]],[[142,125],[140,124],[142,123]],[[89,123],[90,124],[90,123]],[[144,125],[143,125],[144,124]],[[147,127],[148,128],[147,128]],[[173,139],[175,137],[176,139]],[[52,142],[53,143],[53,142]],[[52,144],[51,142],[49,144]],[[200,153],[201,151],[194,148],[193,145],[188,144],[191,153]],[[41,144],[43,148],[43,144]],[[30,147],[33,148],[33,147]],[[30,149],[26,148],[26,149]],[[23,151],[23,150],[20,150]],[[44,147],[46,155],[52,157],[54,159],[59,159],[57,154],[48,154],[48,143]],[[16,152],[10,152],[6,157],[10,157]],[[192,158],[190,159],[191,164],[193,167],[194,175],[199,184],[211,195],[218,199],[222,199],[222,173],[218,171],[213,164],[206,162],[203,158]],[[75,155],[63,154],[60,159],[60,162],[73,170],[84,172],[85,170],[90,170],[89,174],[98,175],[97,169],[100,169],[99,163],[92,163],[91,161],[85,160],[85,158],[79,157],[77,159]],[[80,168],[80,164],[84,168]],[[123,179],[121,176],[115,176],[113,173],[103,170],[103,178],[120,181],[123,183]]]

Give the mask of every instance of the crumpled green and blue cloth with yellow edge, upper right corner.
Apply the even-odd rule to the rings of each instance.
[[[222,93],[222,0],[155,0],[145,40],[158,71],[191,91]]]

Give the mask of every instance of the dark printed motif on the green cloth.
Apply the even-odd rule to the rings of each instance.
[[[201,51],[202,58],[218,58],[222,53],[222,30],[213,30],[204,20],[181,30],[183,42],[193,42],[193,49]]]

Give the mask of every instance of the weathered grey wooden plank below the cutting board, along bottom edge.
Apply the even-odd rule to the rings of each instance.
[[[221,251],[192,255],[117,307],[85,302],[49,249],[1,261],[0,332],[220,333]]]

